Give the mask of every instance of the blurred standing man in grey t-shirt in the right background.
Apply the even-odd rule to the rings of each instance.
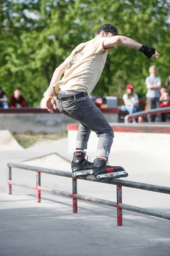
[[[150,76],[148,76],[145,79],[145,84],[147,87],[146,97],[147,97],[148,110],[153,109],[153,108],[159,108],[159,105],[160,105],[159,89],[161,88],[161,78],[156,76],[156,66],[155,65],[150,66],[149,73],[150,73]],[[147,121],[153,122],[152,115],[147,116]],[[155,115],[155,122],[160,122],[160,114]]]

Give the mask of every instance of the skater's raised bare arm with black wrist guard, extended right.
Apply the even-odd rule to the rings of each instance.
[[[107,49],[109,47],[114,47],[116,44],[120,44],[122,46],[134,48],[137,50],[140,50],[141,52],[144,53],[144,55],[147,56],[147,58],[150,58],[151,60],[154,60],[153,57],[151,57],[154,53],[156,55],[156,58],[159,58],[159,53],[151,47],[147,47],[145,44],[139,44],[138,42],[134,41],[131,38],[127,38],[122,35],[115,35],[109,38],[106,38],[105,41],[103,42],[103,48]]]

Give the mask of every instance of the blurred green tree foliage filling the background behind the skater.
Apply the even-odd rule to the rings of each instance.
[[[28,104],[39,105],[55,68],[111,23],[119,34],[156,48],[160,59],[116,46],[93,93],[121,97],[133,83],[145,95],[150,65],[156,64],[163,84],[170,75],[169,6],[170,0],[0,0],[0,84],[8,96],[21,87]]]

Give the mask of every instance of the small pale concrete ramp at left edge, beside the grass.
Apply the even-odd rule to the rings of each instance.
[[[8,130],[0,130],[0,150],[23,150]]]

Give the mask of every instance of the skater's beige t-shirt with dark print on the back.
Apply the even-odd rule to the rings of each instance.
[[[91,94],[102,74],[108,55],[108,49],[104,50],[102,46],[105,39],[94,38],[79,44],[71,52],[71,60],[64,76],[54,84],[55,95],[58,87],[61,91],[73,90]]]

